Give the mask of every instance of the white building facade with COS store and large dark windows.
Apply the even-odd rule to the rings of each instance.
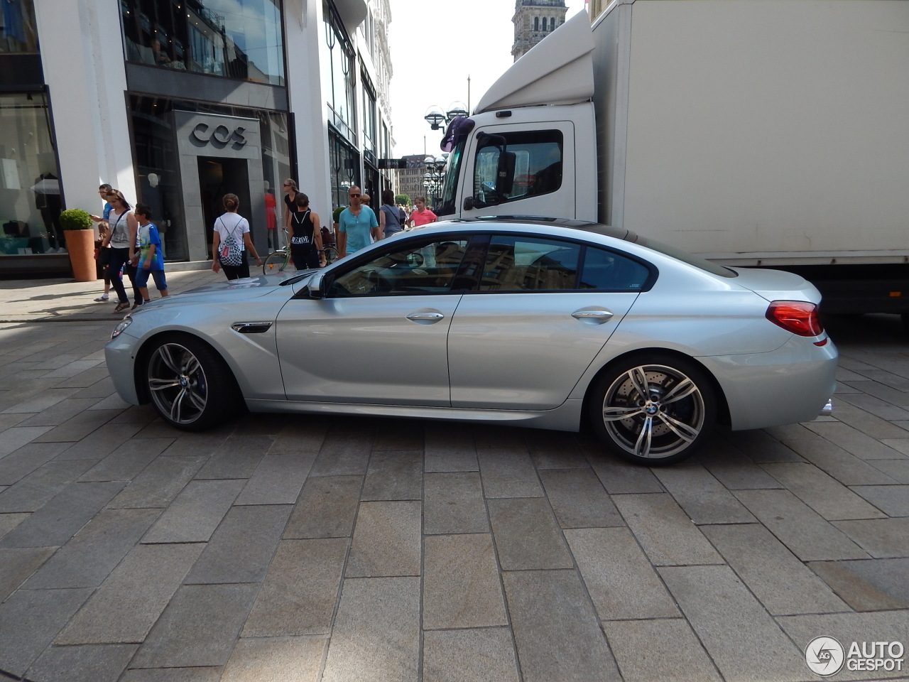
[[[240,197],[257,248],[295,178],[318,213],[392,186],[388,0],[4,0],[0,276],[68,270],[56,216],[109,183],[204,267]],[[377,206],[377,204],[376,204]]]

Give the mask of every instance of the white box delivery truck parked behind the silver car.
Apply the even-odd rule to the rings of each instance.
[[[905,0],[615,0],[445,139],[440,216],[598,221],[907,319]]]

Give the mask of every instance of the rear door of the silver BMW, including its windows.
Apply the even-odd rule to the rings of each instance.
[[[448,335],[452,406],[561,405],[654,277],[653,266],[604,248],[491,236],[478,289]]]

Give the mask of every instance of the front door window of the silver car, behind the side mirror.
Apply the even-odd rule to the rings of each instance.
[[[330,298],[445,294],[464,258],[467,239],[436,239],[397,244],[329,284]]]

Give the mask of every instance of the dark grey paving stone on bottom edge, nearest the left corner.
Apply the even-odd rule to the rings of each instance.
[[[137,644],[50,647],[29,668],[42,682],[116,682],[139,648]]]

